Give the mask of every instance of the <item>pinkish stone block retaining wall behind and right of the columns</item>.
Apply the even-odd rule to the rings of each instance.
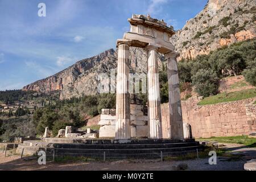
[[[189,123],[193,137],[249,135],[256,131],[255,98],[198,106],[201,97],[181,101],[183,122]],[[168,104],[162,104],[163,133],[168,137]],[[167,118],[167,119],[166,119]]]

